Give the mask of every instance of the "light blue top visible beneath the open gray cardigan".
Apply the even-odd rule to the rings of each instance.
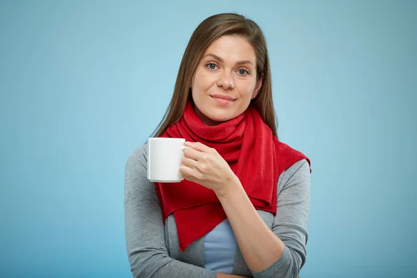
[[[204,268],[231,274],[238,244],[228,219],[204,236]]]

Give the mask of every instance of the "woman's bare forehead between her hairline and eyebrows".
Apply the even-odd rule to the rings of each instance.
[[[250,60],[255,64],[256,54],[252,45],[245,38],[237,35],[224,35],[211,43],[204,55],[215,54],[227,60]]]

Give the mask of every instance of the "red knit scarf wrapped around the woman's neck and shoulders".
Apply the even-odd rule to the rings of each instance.
[[[256,109],[206,126],[188,102],[177,124],[161,137],[185,138],[213,147],[229,163],[255,208],[277,213],[277,181],[288,167],[307,159],[279,142]],[[310,162],[309,162],[310,163]],[[174,213],[181,252],[227,218],[213,190],[184,179],[179,183],[155,183],[163,221]]]

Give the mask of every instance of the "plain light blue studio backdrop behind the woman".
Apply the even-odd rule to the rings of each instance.
[[[417,272],[417,1],[0,1],[0,277],[131,277],[124,166],[191,33],[263,29],[279,138],[312,162],[302,278]]]

